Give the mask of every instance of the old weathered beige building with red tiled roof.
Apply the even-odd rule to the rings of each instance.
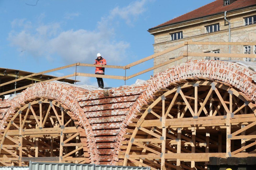
[[[186,41],[255,42],[255,24],[256,0],[216,0],[150,28],[148,32],[154,35],[153,47],[154,52],[157,53]],[[256,46],[188,45],[154,58],[154,65],[183,56],[185,51],[189,53],[224,53],[224,55],[225,53],[256,54]],[[256,58],[208,57],[206,54],[203,57],[188,56],[155,69],[154,74],[194,59],[256,61]]]

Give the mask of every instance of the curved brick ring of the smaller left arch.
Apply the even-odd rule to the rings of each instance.
[[[13,99],[10,108],[3,116],[3,121],[0,122],[0,127],[1,129],[4,128],[3,123],[7,122],[7,117],[11,113],[15,113],[14,109],[17,106],[20,106],[20,104],[24,103],[26,100],[36,97],[53,98],[68,107],[70,112],[72,112],[75,118],[78,120],[80,126],[84,127],[88,141],[88,153],[90,153],[91,161],[92,163],[98,163],[98,151],[92,132],[92,127],[87,118],[84,116],[84,111],[77,101],[77,95],[86,92],[87,90],[85,89],[72,87],[61,83],[38,83],[27,88]]]

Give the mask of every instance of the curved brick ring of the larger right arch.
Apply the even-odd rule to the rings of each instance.
[[[153,94],[160,88],[166,88],[170,83],[191,77],[211,78],[232,85],[255,102],[255,76],[256,72],[249,68],[236,63],[215,60],[193,60],[158,73],[146,82],[146,89],[133,104],[123,121],[115,149],[117,154],[120,151],[121,142],[124,140],[126,126],[132,118],[136,117],[135,113],[140,111],[140,107],[147,103],[146,100],[153,98]],[[118,160],[117,156],[115,158]]]

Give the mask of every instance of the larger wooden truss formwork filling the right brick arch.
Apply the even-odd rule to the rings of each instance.
[[[194,78],[154,96],[126,130],[124,166],[205,169],[209,157],[256,156],[256,105],[229,84]]]

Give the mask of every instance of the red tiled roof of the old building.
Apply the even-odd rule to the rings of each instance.
[[[226,6],[223,5],[223,0],[216,0],[216,1],[206,4],[200,8],[197,8],[193,11],[190,11],[186,14],[183,14],[174,19],[171,19],[165,23],[162,23],[156,27],[150,28],[149,30],[154,29],[154,28],[159,28],[162,26],[166,26],[166,25],[171,25],[171,24],[177,23],[177,22],[182,22],[182,21],[192,20],[192,19],[196,19],[196,18],[208,16],[208,15],[218,14],[221,12],[224,13],[225,11],[230,11],[230,10],[234,10],[234,9],[238,9],[238,8],[244,8],[244,7],[248,7],[251,5],[256,5],[256,0],[236,0],[235,2],[231,3],[230,5],[226,5]]]

